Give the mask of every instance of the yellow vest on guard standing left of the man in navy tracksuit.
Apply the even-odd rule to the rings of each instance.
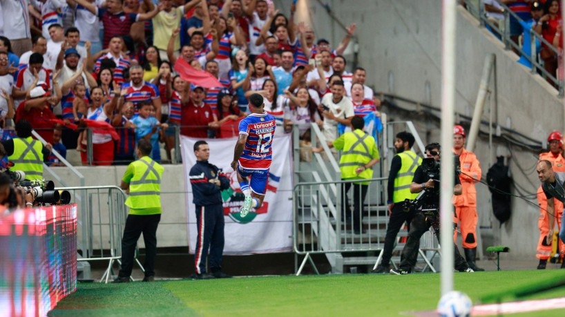
[[[161,164],[144,156],[135,162],[134,174],[129,183],[126,206],[131,209],[161,208]]]

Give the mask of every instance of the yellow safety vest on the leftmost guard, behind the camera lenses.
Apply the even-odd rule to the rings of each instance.
[[[43,145],[32,137],[17,138],[14,140],[14,153],[8,156],[8,161],[13,162],[12,171],[23,171],[26,180],[43,178]]]

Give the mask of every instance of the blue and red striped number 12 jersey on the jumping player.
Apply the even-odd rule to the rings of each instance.
[[[271,144],[275,134],[275,117],[268,113],[251,113],[241,120],[240,135],[247,135],[239,164],[245,169],[269,169],[273,151]]]

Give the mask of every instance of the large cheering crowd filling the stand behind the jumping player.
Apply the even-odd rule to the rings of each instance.
[[[332,49],[294,22],[295,5],[285,15],[271,0],[0,3],[3,139],[27,119],[58,150],[80,151],[83,164],[88,146],[93,165],[128,164],[141,139],[160,162],[171,160],[177,131],[233,137],[253,92],[278,131],[296,125],[304,144],[311,122],[332,141],[354,115],[379,117],[365,69],[345,70],[356,25]]]

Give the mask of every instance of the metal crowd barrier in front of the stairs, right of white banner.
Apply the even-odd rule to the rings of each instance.
[[[311,256],[323,253],[332,267],[347,265],[347,259],[341,259],[337,253],[379,251],[383,247],[386,234],[387,205],[381,197],[385,189],[385,177],[373,178],[369,182],[363,208],[355,213],[353,200],[361,200],[361,193],[354,195],[352,180],[322,182],[317,172],[312,172],[314,182],[304,182],[294,186],[293,247],[298,255],[305,256],[296,275],[300,275],[307,261],[314,267]],[[332,187],[342,190],[332,190]],[[349,189],[349,200],[345,197],[345,186]],[[343,194],[342,194],[343,193]],[[340,201],[347,202],[351,210],[341,211],[336,195],[342,195]],[[359,216],[361,231],[354,231],[354,218]]]

